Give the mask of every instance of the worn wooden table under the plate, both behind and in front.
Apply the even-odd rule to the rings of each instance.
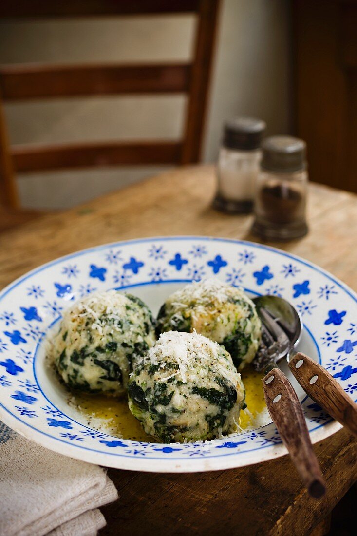
[[[214,170],[181,168],[65,213],[0,235],[0,287],[41,263],[106,242],[155,235],[256,240],[251,217],[211,209]],[[310,233],[273,244],[301,255],[350,286],[357,266],[357,197],[310,186]],[[345,430],[315,445],[328,485],[311,499],[288,456],[251,467],[196,474],[109,470],[119,500],[102,511],[101,534],[309,534],[357,480],[356,440]]]

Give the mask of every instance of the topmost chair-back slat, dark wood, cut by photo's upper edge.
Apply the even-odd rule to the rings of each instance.
[[[0,17],[92,17],[149,13],[194,13],[199,0],[3,0]]]

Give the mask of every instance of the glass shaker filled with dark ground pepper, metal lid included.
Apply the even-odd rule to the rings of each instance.
[[[306,235],[306,143],[291,136],[271,136],[263,141],[262,153],[252,232],[267,240]]]

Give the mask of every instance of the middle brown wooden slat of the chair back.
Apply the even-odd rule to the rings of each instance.
[[[4,100],[118,93],[182,93],[190,84],[189,64],[1,65]]]

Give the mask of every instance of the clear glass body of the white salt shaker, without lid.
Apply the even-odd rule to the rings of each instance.
[[[218,189],[214,206],[225,212],[252,211],[260,149],[241,151],[222,146],[218,159]]]

